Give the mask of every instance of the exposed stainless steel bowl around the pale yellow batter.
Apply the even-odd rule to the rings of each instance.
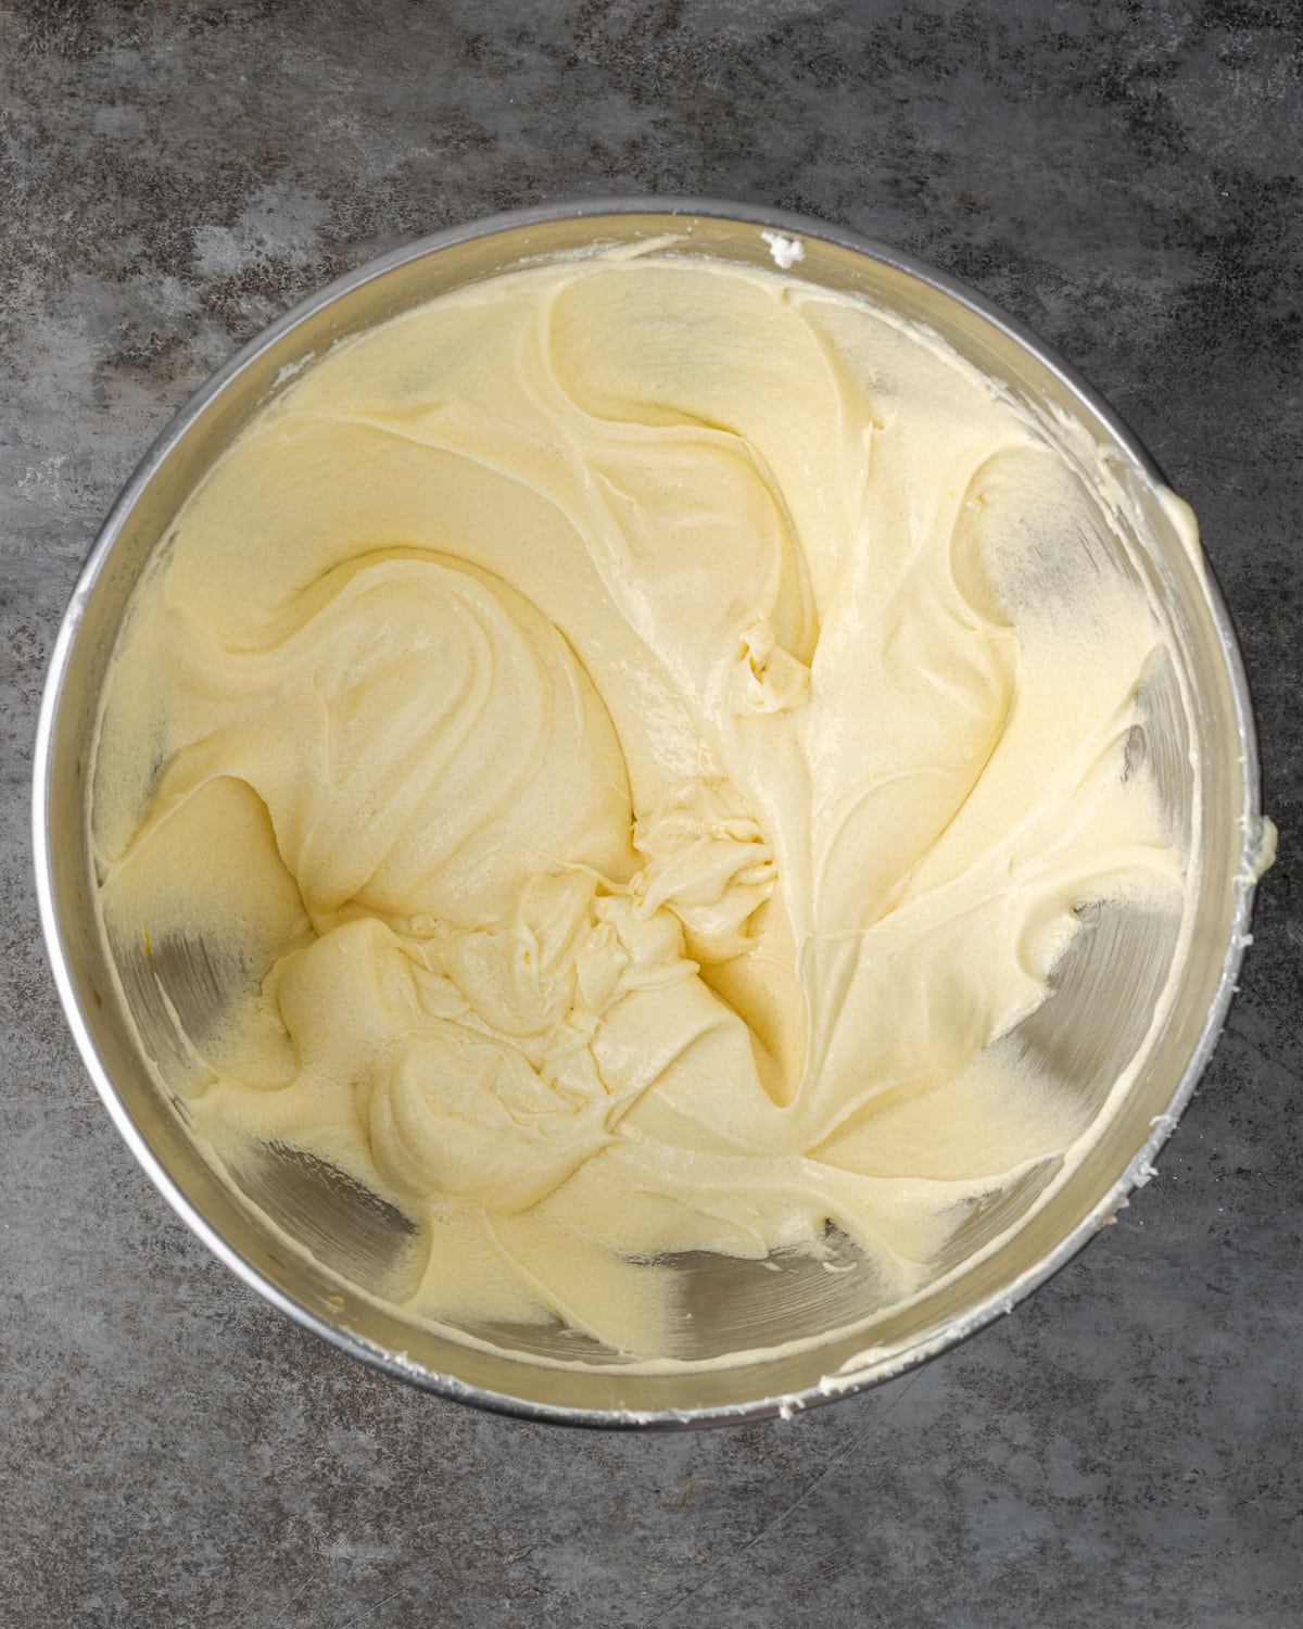
[[[1078,935],[1054,1002],[1029,1021],[1028,1044],[1052,1051],[1060,1075],[1103,1101],[1152,1025],[1173,956],[1182,958],[1178,997],[1138,1075],[1065,1186],[1015,1191],[994,1214],[976,1215],[956,1271],[894,1311],[857,1306],[863,1292],[853,1274],[823,1274],[816,1289],[811,1276],[785,1269],[766,1274],[761,1287],[754,1264],[697,1262],[702,1355],[766,1350],[731,1367],[635,1373],[614,1357],[583,1370],[549,1367],[544,1349],[523,1357],[404,1321],[383,1298],[357,1293],[383,1289],[404,1248],[396,1212],[285,1150],[222,1150],[225,1175],[199,1152],[184,1096],[161,1088],[147,1064],[151,1052],[166,1083],[166,1036],[142,1043],[142,1031],[156,1030],[148,992],[130,969],[106,961],[86,788],[127,599],[181,503],[287,378],[336,340],[446,290],[663,233],[681,235],[689,252],[746,266],[772,264],[766,233],[800,239],[798,275],[930,326],[1033,411],[1065,415],[1098,445],[1130,516],[1134,559],[1182,652],[1184,671],[1150,687],[1147,730],[1165,803],[1187,821],[1199,810],[1200,886],[1181,945],[1125,914]],[[1212,1054],[1248,938],[1264,831],[1249,696],[1226,608],[1182,544],[1158,469],[1117,415],[1018,323],[909,256],[772,210],[699,200],[554,205],[438,233],[332,283],[222,368],[127,482],[77,585],[41,710],[34,828],[46,940],[86,1069],[135,1157],[210,1249],[282,1311],[386,1373],[467,1403],[591,1425],[757,1419],[862,1390],[972,1334],[1064,1266],[1148,1178]]]

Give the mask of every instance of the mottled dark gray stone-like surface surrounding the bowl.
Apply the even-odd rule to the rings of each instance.
[[[1300,8],[0,0],[0,1621],[1300,1622]],[[1282,857],[1160,1178],[1029,1305],[790,1424],[562,1434],[336,1355],[83,1077],[28,775],[151,437],[269,318],[511,204],[704,192],[971,280],[1204,520]]]

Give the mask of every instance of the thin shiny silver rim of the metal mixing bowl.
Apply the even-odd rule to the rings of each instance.
[[[1194,1090],[1213,1054],[1217,1041],[1226,1021],[1231,995],[1236,989],[1236,974],[1243,961],[1244,948],[1249,943],[1249,920],[1253,915],[1253,899],[1257,883],[1262,814],[1261,814],[1261,769],[1257,754],[1257,733],[1249,697],[1248,674],[1235,627],[1231,624],[1226,601],[1213,573],[1212,564],[1204,559],[1204,590],[1207,609],[1220,645],[1230,684],[1235,725],[1239,740],[1239,826],[1241,865],[1236,876],[1235,902],[1231,911],[1230,935],[1226,951],[1218,976],[1217,990],[1191,1051],[1189,1062],[1171,1093],[1161,1114],[1153,1117],[1150,1135],[1137,1150],[1117,1181],[1091,1207],[1090,1214],[1067,1233],[1055,1248],[1028,1267],[1003,1293],[989,1295],[977,1303],[963,1319],[935,1331],[922,1341],[894,1349],[880,1360],[865,1365],[845,1377],[826,1378],[821,1385],[808,1386],[777,1396],[756,1398],[749,1403],[695,1407],[695,1409],[588,1409],[547,1403],[534,1403],[508,1393],[487,1391],[458,1380],[454,1375],[441,1373],[415,1363],[401,1352],[391,1352],[347,1329],[329,1323],[311,1311],[292,1295],[259,1272],[244,1256],[239,1254],[213,1228],[182,1194],[178,1183],[169,1175],[145,1134],[132,1119],[125,1103],[114,1087],[112,1077],[99,1056],[90,1025],[77,999],[72,977],[68,948],[64,940],[62,925],[55,906],[54,891],[54,857],[50,850],[50,818],[49,792],[52,771],[52,743],[59,722],[59,709],[64,683],[68,670],[77,635],[85,617],[86,606],[99,580],[119,534],[137,502],[153,481],[160,466],[171,454],[176,443],[208,409],[210,402],[265,350],[275,345],[292,329],[321,313],[344,295],[355,293],[366,283],[384,279],[391,272],[422,261],[432,254],[456,248],[480,238],[498,233],[515,233],[534,226],[546,226],[555,222],[591,220],[596,225],[603,218],[619,218],[627,215],[663,217],[666,230],[673,230],[674,220],[717,218],[736,222],[744,226],[756,226],[761,231],[782,233],[783,236],[806,239],[814,238],[876,261],[893,270],[915,279],[938,293],[964,306],[969,313],[997,329],[1005,339],[1029,352],[1059,383],[1075,397],[1077,404],[1086,409],[1108,432],[1111,441],[1130,461],[1137,474],[1156,487],[1169,487],[1161,469],[1130,430],[1121,414],[1051,345],[1034,334],[1018,318],[1010,316],[985,295],[967,283],[938,270],[928,262],[886,244],[876,238],[853,231],[849,226],[831,222],[813,220],[787,210],[769,209],[757,204],[733,204],[720,199],[699,197],[580,197],[549,204],[531,204],[520,209],[503,210],[494,215],[474,217],[454,226],[417,238],[401,244],[362,266],[332,279],[322,288],[300,300],[280,318],[261,329],[252,339],[241,345],[205,383],[189,397],[189,401],[173,415],[169,424],[156,437],[132,474],[124,482],[103,526],[86,555],[78,573],[77,585],[68,599],[68,606],[60,619],[59,630],[50,648],[46,686],[41,699],[41,710],[36,727],[33,753],[33,858],[36,868],[36,896],[41,915],[41,929],[46,951],[50,961],[54,982],[64,1008],[64,1016],[77,1043],[81,1062],[94,1083],[96,1091],[109,1113],[119,1135],[127,1144],[137,1161],[163,1194],[181,1220],[207,1245],[207,1248],[226,1264],[246,1285],[256,1290],[265,1302],[270,1302],[288,1318],[319,1336],[340,1352],[379,1370],[393,1378],[404,1380],[423,1391],[469,1403],[480,1409],[508,1414],[520,1419],[586,1425],[599,1429],[627,1427],[699,1427],[739,1424],[749,1420],[772,1419],[775,1416],[790,1417],[793,1412],[831,1403],[844,1396],[865,1391],[870,1386],[899,1378],[940,1352],[977,1334],[987,1324],[1005,1313],[1010,1313],[1033,1290],[1059,1272],[1090,1240],[1106,1227],[1114,1214],[1125,1204],[1127,1196],[1143,1186],[1153,1175],[1153,1160],[1176,1129],[1176,1124],[1189,1103]]]

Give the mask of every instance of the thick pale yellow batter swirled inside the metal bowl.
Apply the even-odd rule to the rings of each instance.
[[[1002,1044],[1078,911],[1184,906],[1101,515],[777,272],[575,261],[339,345],[181,513],[103,715],[106,932],[218,992],[200,1129],[420,1222],[453,1324],[656,1357],[648,1262],[829,1225],[917,1292],[1090,1131]]]

